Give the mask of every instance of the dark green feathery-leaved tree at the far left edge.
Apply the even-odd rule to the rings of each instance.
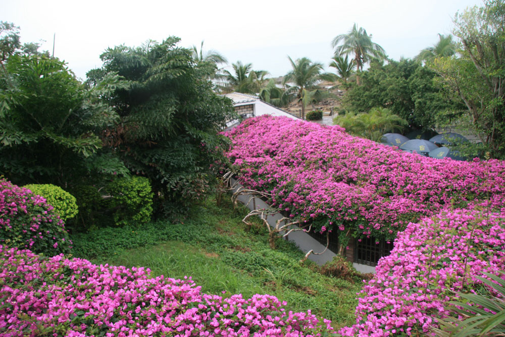
[[[0,76],[0,174],[62,187],[81,179],[102,147],[98,135],[119,121],[100,98],[118,85],[108,76],[86,90],[64,62],[11,55]]]

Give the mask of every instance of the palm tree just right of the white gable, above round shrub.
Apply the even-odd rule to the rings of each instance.
[[[323,65],[313,63],[308,58],[297,59],[296,62],[289,56],[287,58],[293,69],[284,76],[284,85],[287,85],[287,83],[294,84],[292,86],[287,85],[287,94],[293,94],[298,102],[301,102],[301,118],[305,119],[305,106],[307,104],[331,96],[331,93],[321,90],[318,84],[322,80],[334,81],[335,74],[321,73]]]

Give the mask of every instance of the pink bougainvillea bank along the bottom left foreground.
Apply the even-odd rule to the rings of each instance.
[[[330,321],[286,312],[269,295],[201,294],[191,279],[144,268],[42,258],[0,245],[0,332],[5,336],[320,336]]]

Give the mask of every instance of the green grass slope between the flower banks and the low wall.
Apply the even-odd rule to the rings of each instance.
[[[183,223],[158,221],[75,235],[73,254],[97,264],[148,267],[152,276],[191,276],[204,293],[271,294],[286,301],[288,310],[311,309],[335,327],[355,322],[361,282],[321,275],[310,261],[300,265],[304,253],[291,242],[279,239],[276,250],[270,249],[267,230],[258,221],[247,231],[241,221],[245,214],[242,207],[217,207],[209,200],[195,206]]]

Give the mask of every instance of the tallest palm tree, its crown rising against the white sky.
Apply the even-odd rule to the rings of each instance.
[[[335,55],[353,54],[358,71],[363,71],[363,66],[372,59],[383,60],[386,52],[377,43],[372,42],[372,35],[356,23],[347,34],[340,34],[331,41],[331,46],[335,48]],[[360,77],[356,76],[356,83],[360,85]]]

